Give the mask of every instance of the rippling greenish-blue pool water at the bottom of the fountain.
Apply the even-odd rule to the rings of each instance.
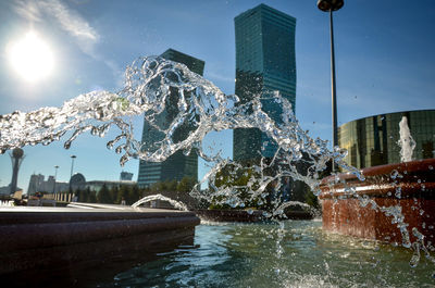
[[[100,287],[434,287],[411,251],[326,234],[321,222],[202,224],[195,247],[159,254]]]

